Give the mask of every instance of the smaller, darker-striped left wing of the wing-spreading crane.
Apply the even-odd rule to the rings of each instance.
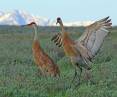
[[[51,41],[53,41],[58,47],[61,47],[62,46],[61,33],[58,33],[58,34],[54,35],[52,37]]]

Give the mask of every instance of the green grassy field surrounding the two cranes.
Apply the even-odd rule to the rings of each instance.
[[[77,39],[83,28],[66,28]],[[78,30],[79,29],[79,30]],[[117,97],[117,28],[106,37],[92,63],[92,80],[69,88],[74,68],[62,48],[51,42],[59,28],[40,27],[38,38],[45,52],[59,65],[60,78],[39,75],[33,61],[33,30],[28,27],[0,26],[0,97]],[[81,32],[81,33],[80,33]]]

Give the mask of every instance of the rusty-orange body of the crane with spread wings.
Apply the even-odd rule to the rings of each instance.
[[[84,65],[81,54],[75,47],[75,45],[76,45],[75,42],[69,37],[69,33],[63,32],[61,37],[62,37],[62,44],[63,44],[63,49],[65,52],[65,55],[70,58],[72,65],[74,65],[74,67],[78,67],[80,69],[82,69],[81,67],[90,68],[90,67]]]

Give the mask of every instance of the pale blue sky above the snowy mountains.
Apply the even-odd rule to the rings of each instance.
[[[25,10],[64,21],[97,20],[105,16],[117,25],[117,0],[0,0],[0,11]]]

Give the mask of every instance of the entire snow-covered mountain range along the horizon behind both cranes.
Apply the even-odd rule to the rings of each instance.
[[[0,25],[25,25],[35,21],[40,26],[56,26],[56,20],[50,20],[45,17],[34,16],[25,11],[14,10],[11,12],[0,11]],[[65,26],[86,26],[92,21],[64,22]]]

